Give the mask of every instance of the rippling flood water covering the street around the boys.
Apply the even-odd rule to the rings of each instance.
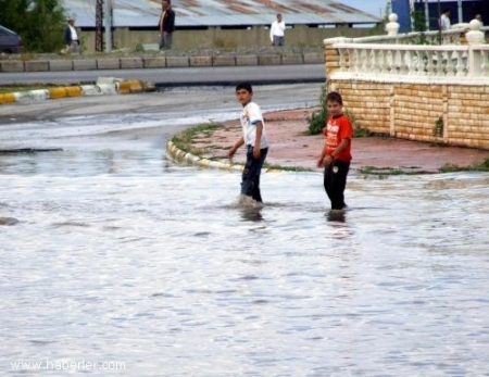
[[[352,172],[331,214],[321,173],[265,173],[246,210],[112,121],[2,128],[63,150],[0,155],[0,375],[489,376],[488,174]]]

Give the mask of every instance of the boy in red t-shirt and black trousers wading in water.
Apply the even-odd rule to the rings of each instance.
[[[326,96],[329,117],[323,129],[325,144],[317,159],[317,167],[324,166],[324,189],[331,201],[331,210],[347,208],[344,188],[351,161],[351,139],[353,127],[342,112],[343,100],[340,93],[331,91]]]

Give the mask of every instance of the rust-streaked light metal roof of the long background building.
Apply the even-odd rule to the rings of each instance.
[[[115,27],[156,27],[161,0],[105,0]],[[97,0],[63,0],[80,27],[95,27]],[[277,13],[289,25],[375,24],[372,14],[331,0],[173,0],[176,27],[269,25]]]

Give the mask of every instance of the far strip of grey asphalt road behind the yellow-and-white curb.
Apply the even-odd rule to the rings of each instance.
[[[99,77],[149,80],[155,83],[160,88],[175,86],[228,86],[243,80],[251,81],[254,85],[269,85],[324,83],[326,79],[323,64],[300,64],[0,73],[0,85],[83,84],[93,83]]]

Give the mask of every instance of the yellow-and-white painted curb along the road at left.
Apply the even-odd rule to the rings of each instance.
[[[53,87],[49,89],[35,89],[0,93],[0,104],[39,100],[58,100],[72,97],[100,96],[100,95],[129,95],[145,91],[155,91],[153,83],[137,79],[124,80],[118,78],[99,78],[95,85],[79,85]]]

